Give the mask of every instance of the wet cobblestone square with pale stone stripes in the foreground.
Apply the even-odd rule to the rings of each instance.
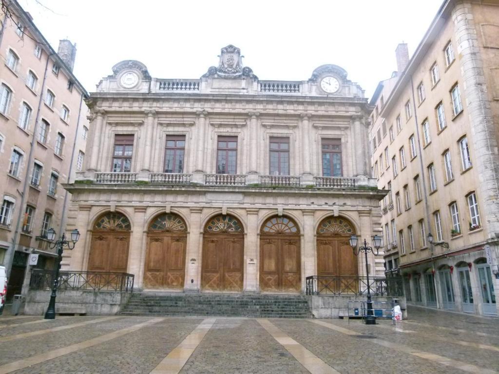
[[[499,319],[416,307],[409,317],[396,327],[221,317],[196,339],[203,318],[5,316],[0,374],[499,374]]]

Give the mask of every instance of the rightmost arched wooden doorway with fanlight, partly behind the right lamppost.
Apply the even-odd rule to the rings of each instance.
[[[317,227],[317,275],[357,276],[358,262],[348,243],[355,234],[345,218],[327,217]]]

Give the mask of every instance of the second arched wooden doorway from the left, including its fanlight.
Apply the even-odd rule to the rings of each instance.
[[[187,226],[174,213],[156,216],[147,230],[144,288],[184,287]]]

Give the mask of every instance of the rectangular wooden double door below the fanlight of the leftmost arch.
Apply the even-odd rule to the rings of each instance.
[[[88,271],[126,273],[130,232],[94,231],[88,257]]]

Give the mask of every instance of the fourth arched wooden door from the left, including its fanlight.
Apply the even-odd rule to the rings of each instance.
[[[260,290],[301,290],[300,232],[287,217],[269,218],[260,230]]]

